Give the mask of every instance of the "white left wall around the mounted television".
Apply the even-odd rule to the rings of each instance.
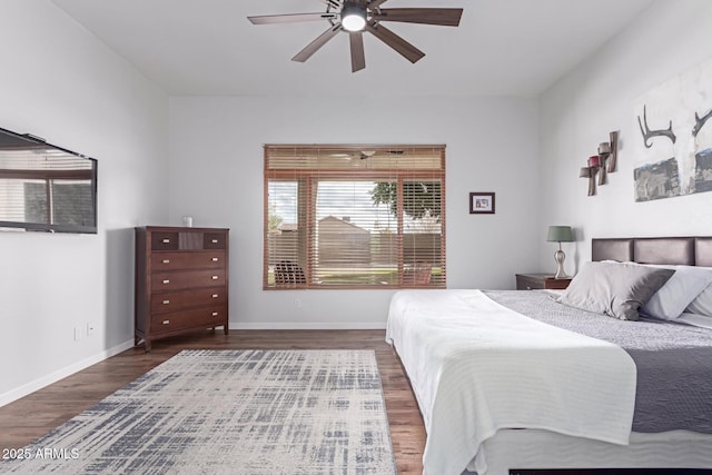
[[[0,2],[0,127],[99,161],[98,235],[0,232],[1,405],[134,343],[132,227],[167,216],[168,99],[49,0]]]

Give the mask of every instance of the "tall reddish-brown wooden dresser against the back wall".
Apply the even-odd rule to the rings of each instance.
[[[136,228],[135,344],[221,326],[228,334],[229,230]]]

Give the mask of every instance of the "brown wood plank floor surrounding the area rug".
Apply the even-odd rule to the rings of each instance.
[[[0,407],[0,449],[20,448],[88,409],[181,349],[374,349],[398,474],[423,473],[425,428],[400,362],[383,330],[231,330],[157,340],[128,349]]]

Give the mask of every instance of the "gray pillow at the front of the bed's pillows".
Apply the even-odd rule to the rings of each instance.
[[[637,320],[637,310],[674,273],[631,264],[585,263],[558,301],[622,320]]]

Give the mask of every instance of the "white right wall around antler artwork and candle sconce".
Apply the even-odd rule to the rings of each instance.
[[[710,31],[709,0],[659,0],[541,98],[540,228],[575,227],[578,243],[564,245],[570,273],[574,260],[590,260],[592,237],[712,235],[712,192],[649,202],[635,202],[633,195],[633,142],[642,140],[635,100],[712,57]],[[587,180],[578,178],[578,169],[612,130],[621,132],[619,171],[609,175],[597,196],[586,197]],[[554,245],[540,248],[546,266]]]

